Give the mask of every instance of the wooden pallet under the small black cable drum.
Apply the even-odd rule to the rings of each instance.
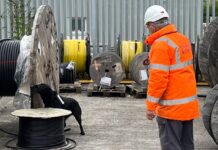
[[[80,82],[76,81],[72,84],[60,84],[60,93],[70,93],[70,92],[76,92],[80,93],[82,92],[82,85]]]

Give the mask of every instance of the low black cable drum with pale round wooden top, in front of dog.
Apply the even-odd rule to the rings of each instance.
[[[18,149],[71,149],[64,135],[65,116],[71,112],[57,108],[19,109]]]

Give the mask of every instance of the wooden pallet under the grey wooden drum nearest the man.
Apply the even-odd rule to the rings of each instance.
[[[147,88],[137,84],[131,84],[126,86],[127,92],[135,98],[146,98]]]

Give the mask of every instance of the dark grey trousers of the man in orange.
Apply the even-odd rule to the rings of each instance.
[[[194,150],[193,120],[177,121],[157,117],[162,150]]]

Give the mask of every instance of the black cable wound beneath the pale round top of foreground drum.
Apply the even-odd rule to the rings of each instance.
[[[31,149],[66,145],[64,117],[49,119],[20,117],[17,145]]]

